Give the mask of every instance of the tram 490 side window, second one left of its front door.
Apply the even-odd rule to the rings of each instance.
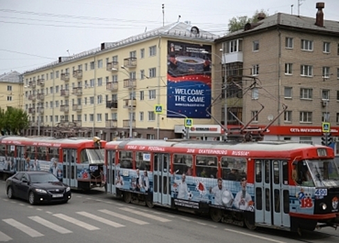
[[[197,156],[195,169],[197,176],[216,178],[218,175],[218,158],[211,156]]]

